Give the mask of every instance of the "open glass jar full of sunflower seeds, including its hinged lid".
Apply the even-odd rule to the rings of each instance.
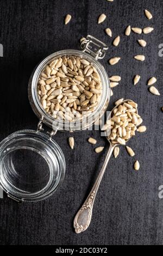
[[[90,35],[81,46],[82,51],[55,52],[37,65],[28,86],[37,129],[17,131],[0,143],[0,186],[17,202],[43,200],[57,190],[66,164],[52,136],[88,129],[108,106],[109,78],[98,62],[108,47]]]

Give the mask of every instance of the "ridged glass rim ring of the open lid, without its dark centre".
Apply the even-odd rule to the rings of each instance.
[[[23,146],[20,141],[23,142]],[[12,179],[8,179],[9,173],[14,175],[15,168],[10,164],[10,169],[7,169],[4,160],[9,158],[12,150],[16,151],[17,149],[33,150],[46,161],[49,178],[46,185],[40,190],[35,192],[23,190],[15,186]],[[20,201],[36,202],[46,199],[57,190],[64,180],[66,163],[62,150],[52,138],[39,131],[21,130],[3,139],[0,143],[0,160],[0,186],[10,197]]]

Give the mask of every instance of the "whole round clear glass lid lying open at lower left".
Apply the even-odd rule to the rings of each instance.
[[[46,199],[64,179],[59,145],[40,131],[12,133],[0,143],[0,186],[18,201]]]

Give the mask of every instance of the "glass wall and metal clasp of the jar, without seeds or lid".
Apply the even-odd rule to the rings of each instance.
[[[81,47],[83,48],[83,51],[63,50],[59,52],[54,52],[53,54],[42,60],[42,62],[33,71],[33,74],[29,80],[28,95],[32,109],[37,117],[42,118],[43,123],[45,123],[47,126],[53,127],[54,131],[60,130],[74,132],[88,129],[97,121],[97,119],[101,118],[106,108],[108,107],[110,99],[110,82],[103,65],[97,61],[97,59],[104,58],[105,50],[107,50],[108,47],[103,44],[103,42],[97,40],[96,38],[93,38],[93,36],[91,35],[88,35],[86,39],[82,41]],[[83,119],[72,122],[65,120],[55,120],[51,115],[47,114],[45,109],[43,109],[37,95],[37,82],[39,79],[39,75],[41,74],[46,65],[51,63],[54,59],[63,56],[76,56],[88,60],[96,68],[102,81],[101,101],[99,102],[95,111],[90,113],[89,117],[86,115],[86,117],[84,117]]]

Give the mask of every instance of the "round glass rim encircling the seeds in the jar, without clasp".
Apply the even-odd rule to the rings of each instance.
[[[79,130],[86,130],[88,129],[93,123],[87,123],[87,118],[83,117],[81,120],[77,121],[62,121],[62,120],[55,120],[51,115],[47,114],[45,109],[42,108],[42,105],[40,103],[39,97],[37,95],[37,80],[39,78],[39,75],[41,71],[45,68],[45,66],[51,62],[54,58],[59,58],[61,56],[66,55],[74,55],[74,56],[80,56],[83,58],[88,59],[97,69],[101,80],[102,80],[102,96],[101,101],[99,102],[98,106],[96,107],[95,111],[89,114],[90,120],[94,120],[93,123],[95,123],[95,117],[96,115],[99,116],[99,114],[103,111],[103,108],[105,105],[108,106],[109,100],[110,100],[110,82],[108,75],[106,74],[106,71],[101,63],[99,63],[95,58],[93,58],[90,54],[83,52],[81,50],[62,50],[52,53],[51,55],[47,56],[45,59],[43,59],[34,69],[28,84],[28,96],[30,105],[32,106],[32,109],[34,113],[37,115],[37,117],[41,118],[43,117],[43,123],[45,123],[47,126],[51,127],[53,130],[64,130],[64,131],[79,131]],[[108,103],[107,103],[108,102]],[[84,127],[84,129],[83,129]]]

